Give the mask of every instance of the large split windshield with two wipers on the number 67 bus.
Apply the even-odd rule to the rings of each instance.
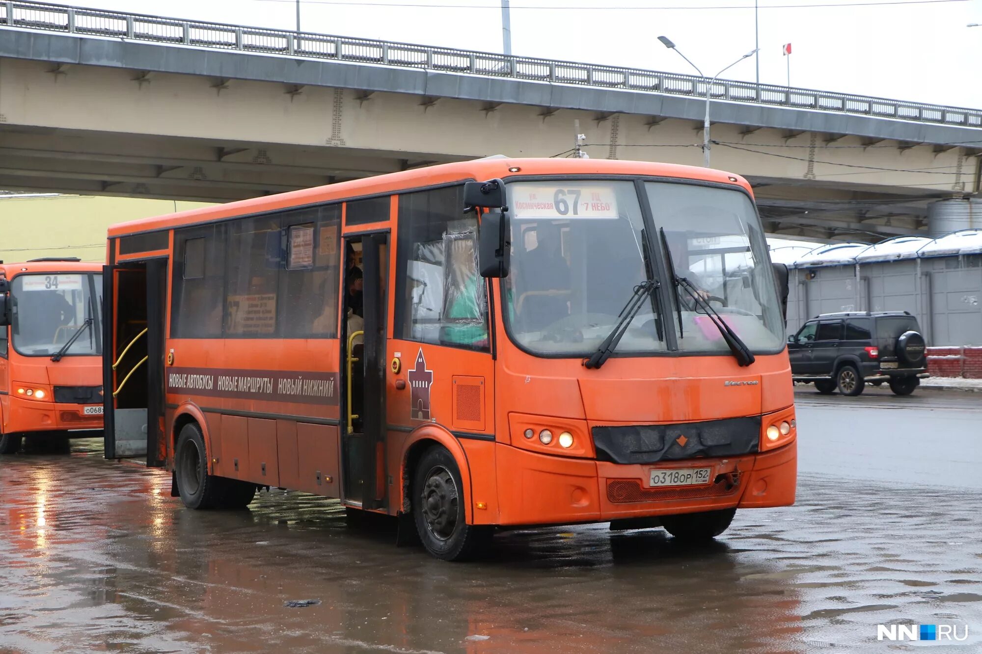
[[[645,192],[650,226],[632,182],[509,185],[513,255],[505,302],[517,344],[547,356],[592,354],[635,287],[657,277],[654,261],[666,255],[664,243],[676,274],[752,352],[784,347],[777,289],[750,199],[739,191],[667,182],[645,183]],[[680,351],[730,354],[704,308],[671,280],[660,281],[671,287],[672,306],[659,318],[656,294],[645,300],[617,354],[667,351],[669,321]]]

